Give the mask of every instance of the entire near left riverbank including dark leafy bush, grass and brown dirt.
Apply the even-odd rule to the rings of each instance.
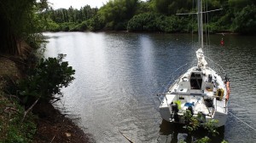
[[[42,59],[21,72],[20,59],[0,56],[0,142],[90,142],[72,120],[51,101],[61,98],[61,87],[73,81],[74,70],[65,55]],[[24,63],[25,64],[25,63]],[[22,74],[23,73],[23,74]]]

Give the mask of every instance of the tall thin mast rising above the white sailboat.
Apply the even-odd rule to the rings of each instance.
[[[199,48],[204,48],[203,40],[203,23],[202,23],[202,3],[197,0],[197,23],[198,23],[198,43]]]

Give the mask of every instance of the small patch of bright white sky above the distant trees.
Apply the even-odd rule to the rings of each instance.
[[[90,5],[91,8],[101,8],[108,0],[48,0],[53,9],[68,9],[72,6],[74,9],[80,9],[85,5]]]

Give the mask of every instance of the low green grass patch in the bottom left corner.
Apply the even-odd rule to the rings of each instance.
[[[24,108],[15,97],[3,91],[0,91],[0,112],[0,142],[32,142],[37,130],[34,122],[36,117],[29,114],[21,123]]]

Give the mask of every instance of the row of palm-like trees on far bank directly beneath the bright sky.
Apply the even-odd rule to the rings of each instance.
[[[95,19],[97,11],[86,5],[81,9],[47,9],[39,15],[44,17],[44,31],[84,31],[90,27],[90,21]]]

